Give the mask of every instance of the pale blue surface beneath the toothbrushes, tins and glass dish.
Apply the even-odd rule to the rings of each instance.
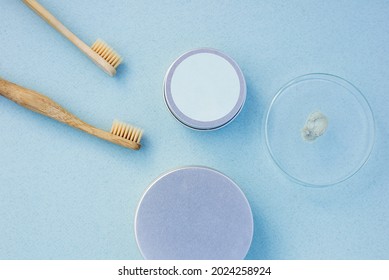
[[[0,76],[98,127],[145,130],[135,152],[0,98],[0,258],[141,259],[137,203],[161,173],[205,165],[252,206],[248,259],[389,259],[389,3],[387,1],[49,1],[88,44],[125,62],[111,78],[21,1],[0,0]],[[227,127],[198,132],[165,108],[162,82],[180,54],[234,58],[248,97]],[[286,178],[267,154],[263,119],[277,90],[311,72],[356,85],[376,118],[376,144],[351,179],[324,189]]]

